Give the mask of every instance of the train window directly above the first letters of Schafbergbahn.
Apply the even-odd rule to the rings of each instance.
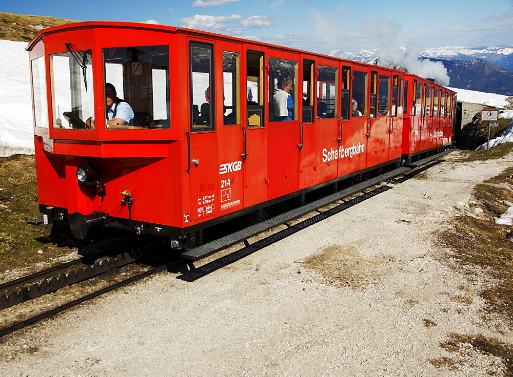
[[[338,68],[318,66],[317,118],[337,118]]]

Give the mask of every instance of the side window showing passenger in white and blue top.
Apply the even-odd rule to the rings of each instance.
[[[298,119],[298,62],[269,58],[269,121]]]

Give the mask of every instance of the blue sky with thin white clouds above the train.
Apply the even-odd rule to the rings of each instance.
[[[513,0],[4,0],[0,12],[185,26],[324,54],[513,45]]]

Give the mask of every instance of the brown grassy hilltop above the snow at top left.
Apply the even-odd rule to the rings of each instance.
[[[76,21],[55,17],[0,13],[0,39],[29,42],[41,27],[71,24]]]

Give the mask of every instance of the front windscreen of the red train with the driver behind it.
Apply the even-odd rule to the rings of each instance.
[[[170,128],[168,46],[106,48],[102,52],[106,128]]]

